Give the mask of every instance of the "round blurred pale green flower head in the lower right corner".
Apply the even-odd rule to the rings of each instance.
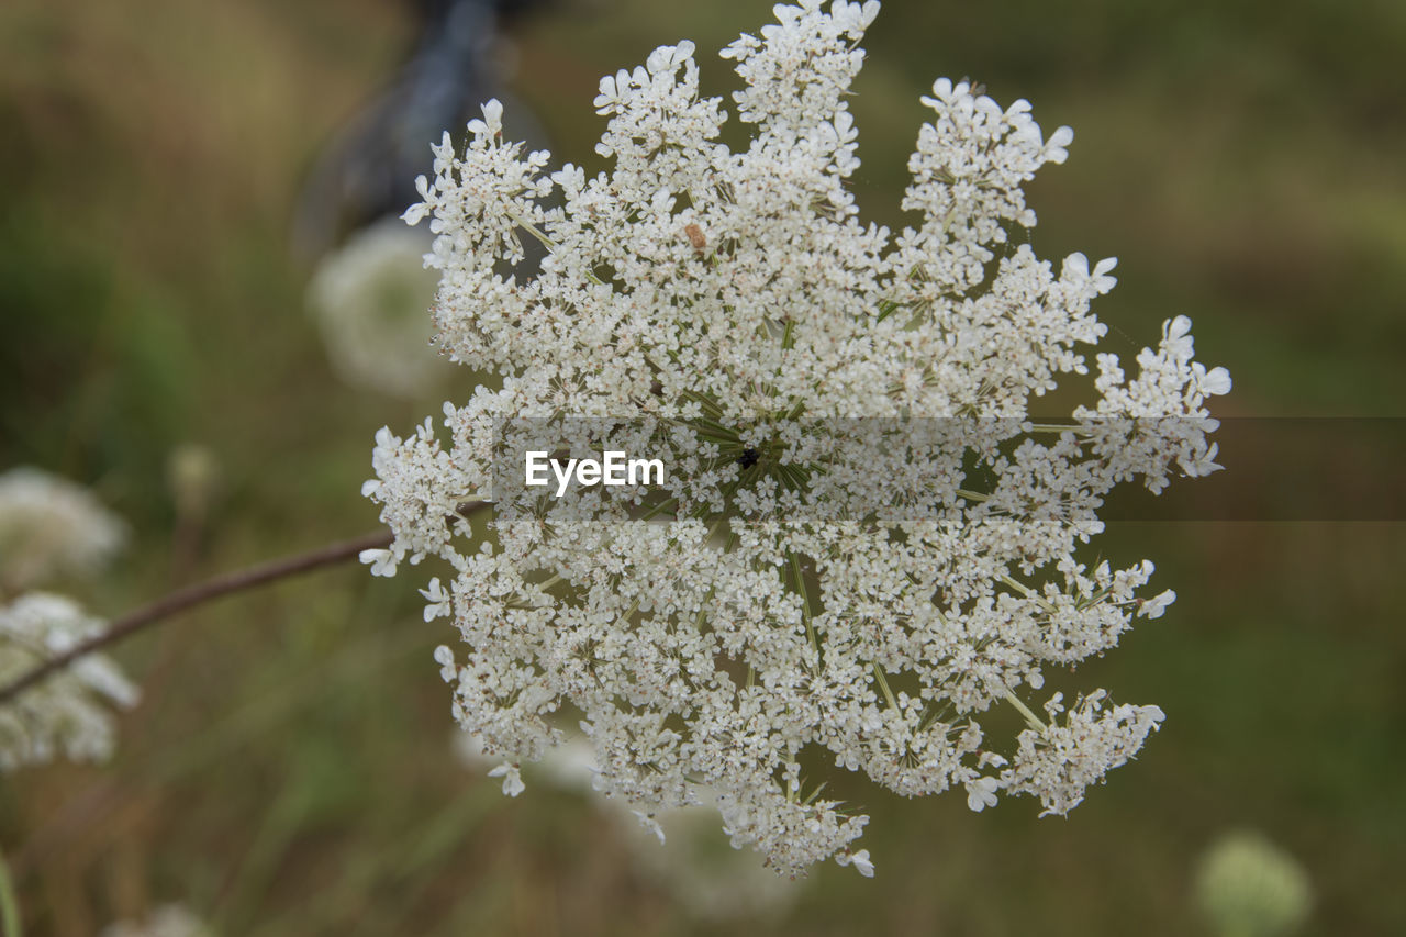
[[[1201,860],[1197,899],[1225,937],[1272,937],[1308,920],[1313,888],[1292,855],[1260,833],[1239,830]]]

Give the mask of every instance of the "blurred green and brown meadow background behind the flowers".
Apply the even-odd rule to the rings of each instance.
[[[692,38],[723,93],[711,52],[766,21],[561,0],[499,63],[591,165],[600,75]],[[0,6],[0,468],[90,484],[131,523],[72,589],[90,608],[374,529],[375,429],[471,391],[343,381],[290,243],[316,153],[415,35],[396,0]],[[1076,128],[1031,186],[1033,243],[1119,257],[1111,350],[1188,314],[1234,376],[1225,415],[1403,415],[1406,4],[890,0],[865,45],[869,218],[903,221],[918,96],[974,76]],[[170,483],[190,446],[217,468],[198,509]],[[1142,757],[1067,820],[869,789],[877,877],[817,868],[765,916],[703,920],[583,795],[508,801],[465,768],[430,660],[447,626],[420,622],[422,582],[360,567],[121,647],[145,699],[118,757],[0,779],[0,847],[37,934],[167,902],[224,934],[1195,934],[1199,857],[1253,827],[1306,868],[1308,933],[1406,933],[1406,528],[1119,523],[1099,549],[1180,595],[1080,674],[1167,712]]]

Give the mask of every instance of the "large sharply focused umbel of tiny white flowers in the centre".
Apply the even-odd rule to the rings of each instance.
[[[973,810],[1028,793],[1064,815],[1137,753],[1156,706],[1054,694],[1042,719],[1017,691],[1171,602],[1142,594],[1152,563],[1077,553],[1114,484],[1159,491],[1218,467],[1205,400],[1230,387],[1192,360],[1178,317],[1135,377],[1098,355],[1098,397],[1071,422],[1026,418],[1060,374],[1085,373],[1081,349],[1105,332],[1090,302],[1114,286],[1112,260],[1056,272],[1011,236],[1035,225],[1021,186],[1073,134],[1045,138],[1025,101],[939,80],[903,200],[920,221],[862,224],[846,91],[877,10],[778,6],[724,49],[754,129],[740,152],[718,141],[721,101],[699,96],[688,42],[602,80],[613,166],[595,177],[544,174],[547,153],[502,139],[496,101],[461,152],[446,135],[405,218],[432,217],[441,348],[501,390],[446,404],[443,435],[429,419],[405,439],[382,429],[363,488],[395,535],[363,557],[373,573],[426,556],[453,570],[423,591],[426,616],[463,637],[436,661],[505,792],[562,743],[555,713],[572,708],[603,793],[645,817],[707,799],[734,846],[790,875],[830,857],[873,871],[853,847],[868,817],[824,796],[817,764],[905,796],[959,788]],[[547,250],[533,272],[523,236]],[[582,416],[671,426],[695,471],[654,501],[561,498],[475,533],[460,511],[502,494],[505,421]],[[813,495],[863,495],[883,473],[821,471],[796,429],[852,442],[873,425],[856,418],[962,431],[934,436],[922,484],[877,491],[907,511],[859,523]],[[1024,716],[1015,739],[988,733],[997,705]]]

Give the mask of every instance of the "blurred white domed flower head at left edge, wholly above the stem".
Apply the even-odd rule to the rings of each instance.
[[[0,474],[0,592],[96,573],[125,540],[127,525],[87,488],[27,466]]]

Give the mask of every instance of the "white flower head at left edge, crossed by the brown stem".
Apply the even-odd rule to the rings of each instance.
[[[103,622],[73,601],[31,592],[0,606],[0,685],[101,633]],[[0,705],[0,771],[56,756],[103,761],[112,754],[111,706],[129,709],[138,692],[104,654],[87,654],[17,699]]]

